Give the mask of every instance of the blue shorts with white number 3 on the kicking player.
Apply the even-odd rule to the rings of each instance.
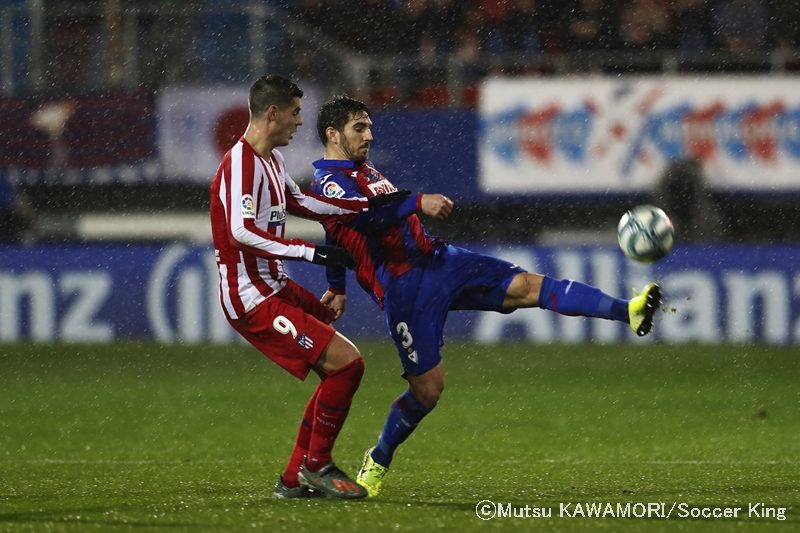
[[[391,281],[384,294],[389,334],[404,375],[418,376],[439,364],[444,323],[450,310],[510,313],[503,309],[511,280],[522,268],[446,245],[430,261]]]

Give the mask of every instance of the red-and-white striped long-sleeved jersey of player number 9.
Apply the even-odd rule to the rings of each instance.
[[[288,276],[282,258],[311,261],[314,244],[285,239],[287,211],[325,221],[349,221],[367,199],[330,199],[304,193],[286,172],[283,156],[258,154],[244,137],[222,158],[211,183],[211,233],[219,268],[220,301],[239,318],[280,291]]]

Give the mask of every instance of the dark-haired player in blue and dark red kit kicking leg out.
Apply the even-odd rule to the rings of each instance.
[[[371,197],[397,191],[369,162],[373,141],[369,109],[336,97],[323,105],[317,134],[325,147],[312,191],[329,198]],[[383,309],[409,388],[392,404],[377,443],[367,450],[356,481],[375,496],[397,447],[431,412],[444,388],[441,346],[447,313],[485,310],[510,313],[541,307],[564,315],[617,320],[646,335],[661,303],[650,283],[631,300],[595,287],[526,272],[517,265],[453,246],[428,235],[417,213],[443,219],[453,202],[442,194],[409,195],[371,209],[349,224],[323,222],[327,240],[356,260],[359,284]],[[344,312],[345,269],[327,268],[322,297],[336,316]]]

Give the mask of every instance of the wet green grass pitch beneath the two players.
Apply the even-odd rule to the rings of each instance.
[[[360,347],[335,453],[353,474],[404,388],[389,342]],[[800,530],[796,348],[449,343],[445,363],[378,498],[280,501],[316,378],[246,346],[0,345],[0,530]],[[481,500],[553,516],[484,521]],[[559,516],[575,502],[744,509]]]

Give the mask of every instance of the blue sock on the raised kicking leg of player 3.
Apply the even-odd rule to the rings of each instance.
[[[628,300],[614,298],[585,283],[544,276],[539,307],[562,315],[591,316],[629,322]]]

